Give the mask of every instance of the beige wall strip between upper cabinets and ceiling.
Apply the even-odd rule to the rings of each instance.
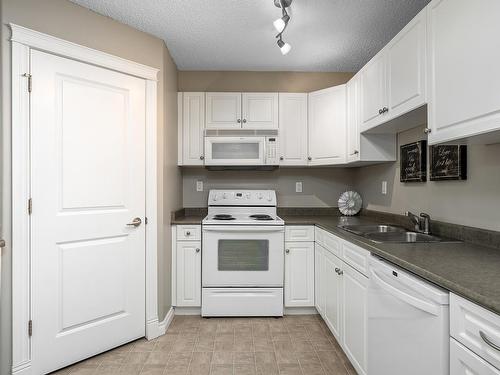
[[[354,73],[179,71],[179,91],[310,92],[346,83]]]

